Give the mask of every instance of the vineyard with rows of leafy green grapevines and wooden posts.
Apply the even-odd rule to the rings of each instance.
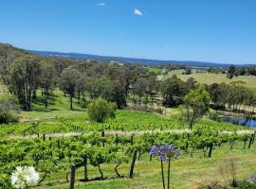
[[[199,121],[192,130],[180,123],[176,117],[119,111],[115,119],[103,124],[91,123],[84,112],[2,125],[1,186],[10,188],[9,175],[13,169],[28,164],[40,173],[39,188],[58,188],[60,184],[63,186],[59,188],[68,188],[72,180],[78,184],[76,188],[84,184],[86,188],[119,188],[122,184],[134,187],[131,178],[146,188],[155,188],[160,184],[160,174],[158,162],[149,152],[151,146],[164,144],[174,144],[182,151],[172,166],[171,180],[175,186],[185,185],[183,177],[195,171],[193,166],[198,170],[198,166],[204,166],[199,175],[192,174],[196,179],[187,183],[191,184],[189,187],[199,184],[204,181],[200,174],[214,172],[214,165],[234,154],[241,162],[240,177],[255,170],[255,130],[207,119]],[[71,173],[75,173],[75,178],[70,177]]]

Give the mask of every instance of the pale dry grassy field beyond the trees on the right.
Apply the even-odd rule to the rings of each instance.
[[[166,77],[171,77],[174,74],[180,77],[182,80],[186,81],[189,77],[194,77],[195,80],[197,80],[199,83],[206,83],[206,84],[212,84],[214,82],[216,83],[230,83],[232,81],[236,80],[242,80],[246,82],[246,86],[248,88],[256,90],[256,77],[252,76],[239,76],[234,77],[232,79],[227,78],[226,74],[211,74],[211,73],[193,73],[191,75],[182,75],[183,70],[174,70],[172,72],[169,72]]]

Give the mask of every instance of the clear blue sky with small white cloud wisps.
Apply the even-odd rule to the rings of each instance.
[[[0,42],[29,50],[256,63],[256,1],[0,0]]]

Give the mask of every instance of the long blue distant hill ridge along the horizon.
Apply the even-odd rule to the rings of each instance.
[[[110,57],[110,56],[99,56],[91,54],[80,54],[80,53],[60,53],[50,51],[34,51],[30,50],[31,53],[46,56],[46,57],[59,57],[73,60],[113,60],[123,63],[138,63],[143,65],[164,65],[167,63],[184,64],[194,67],[228,67],[230,64],[227,63],[214,63],[206,61],[192,61],[192,60],[149,60],[149,59],[135,59],[135,58],[123,58],[123,57]],[[238,65],[239,66],[239,65]],[[241,66],[241,65],[240,65]]]

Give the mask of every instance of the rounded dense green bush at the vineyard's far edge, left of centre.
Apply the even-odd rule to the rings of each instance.
[[[117,105],[115,103],[107,102],[101,97],[93,100],[88,106],[90,119],[99,123],[102,123],[108,117],[115,117],[116,110]]]

